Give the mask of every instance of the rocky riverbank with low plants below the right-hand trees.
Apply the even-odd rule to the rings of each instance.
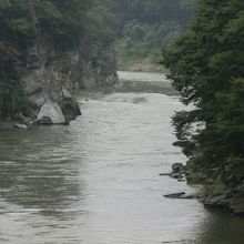
[[[187,195],[179,192],[165,195],[165,197],[199,199],[207,209],[227,210],[234,215],[244,216],[244,182],[238,186],[230,187],[217,180],[210,179],[203,172],[181,163],[173,164],[171,173],[161,173],[160,175],[171,176],[179,182],[186,181],[189,185],[202,185],[197,194]]]

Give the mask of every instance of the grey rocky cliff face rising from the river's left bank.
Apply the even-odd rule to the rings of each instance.
[[[75,51],[58,53],[52,45],[35,44],[19,70],[24,93],[34,104],[29,115],[40,124],[69,123],[81,114],[75,90],[118,81],[111,45],[83,43]]]

